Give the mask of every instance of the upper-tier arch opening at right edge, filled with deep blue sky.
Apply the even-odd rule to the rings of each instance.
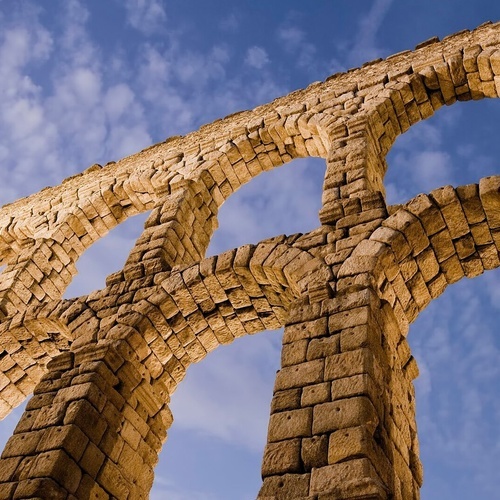
[[[389,205],[444,185],[476,183],[498,174],[500,143],[486,133],[500,123],[494,99],[456,103],[420,121],[396,139],[387,155]]]

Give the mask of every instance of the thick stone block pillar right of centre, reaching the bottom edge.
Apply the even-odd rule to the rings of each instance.
[[[290,313],[259,498],[418,498],[414,361],[363,280]]]

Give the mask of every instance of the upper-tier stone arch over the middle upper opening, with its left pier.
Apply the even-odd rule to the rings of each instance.
[[[156,202],[128,263],[142,268],[138,272],[144,275],[146,265],[157,271],[198,261],[217,228],[219,208],[243,184],[295,158],[325,157],[333,119],[304,108],[278,107],[231,131],[229,137],[222,136],[215,145],[202,144],[189,156],[179,154],[179,173],[166,174],[167,192]],[[145,250],[152,247],[158,250],[154,256],[148,252],[145,259]]]

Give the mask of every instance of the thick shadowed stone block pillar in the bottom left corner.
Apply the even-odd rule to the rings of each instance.
[[[0,498],[148,498],[172,422],[126,340],[52,360],[0,460]]]

